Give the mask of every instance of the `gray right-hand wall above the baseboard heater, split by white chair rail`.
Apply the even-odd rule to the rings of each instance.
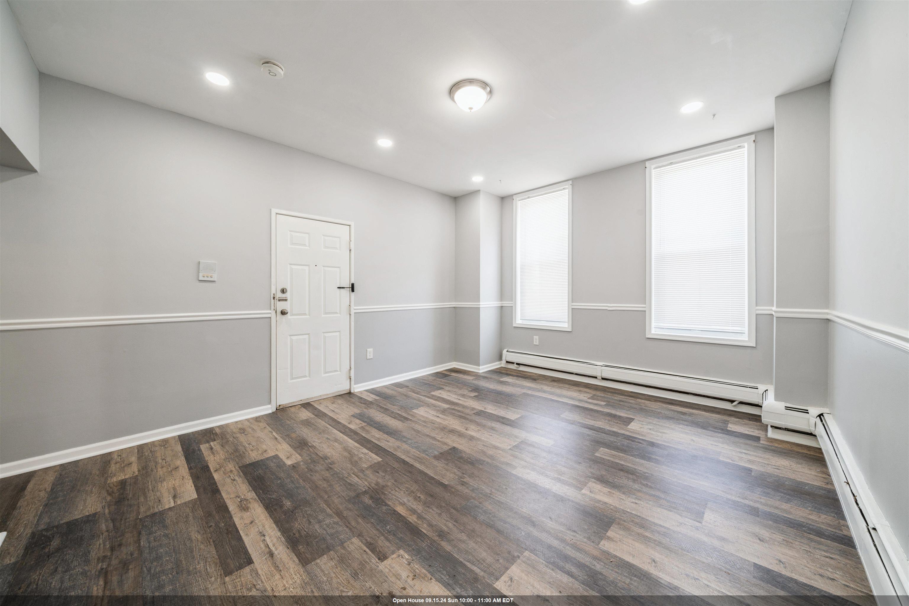
[[[830,97],[831,308],[909,328],[909,4],[854,2]],[[909,553],[909,353],[832,323],[830,408]]]

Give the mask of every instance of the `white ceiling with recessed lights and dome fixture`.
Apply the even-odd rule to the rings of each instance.
[[[45,74],[445,194],[482,174],[505,195],[772,126],[774,96],[829,79],[850,2],[10,5]],[[448,98],[464,78],[493,87],[475,114]],[[692,100],[704,109],[679,114]]]

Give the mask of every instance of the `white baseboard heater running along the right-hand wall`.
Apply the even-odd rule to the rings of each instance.
[[[895,595],[905,600],[909,593],[909,558],[874,501],[834,415],[824,413],[818,419],[817,438],[871,589],[875,596]],[[901,598],[886,603],[909,603]]]

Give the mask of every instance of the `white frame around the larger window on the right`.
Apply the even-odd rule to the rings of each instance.
[[[747,293],[747,303],[748,303],[748,317],[747,317],[747,338],[746,339],[724,339],[723,337],[712,337],[705,335],[697,334],[672,334],[672,333],[654,333],[653,332],[653,263],[652,263],[652,243],[651,236],[653,232],[652,224],[652,198],[651,198],[651,184],[653,177],[653,170],[655,167],[664,166],[666,164],[674,164],[676,162],[684,162],[686,160],[693,160],[694,158],[699,158],[708,154],[715,154],[717,152],[723,152],[725,150],[734,149],[736,147],[745,147],[747,154],[747,164],[748,164],[748,210],[747,210],[747,219],[748,219],[748,250],[746,251],[748,255],[748,293]],[[756,329],[756,316],[755,316],[755,271],[754,271],[754,134],[749,134],[744,137],[738,137],[729,141],[724,141],[718,144],[706,145],[704,147],[698,147],[697,149],[688,150],[687,152],[680,152],[678,154],[665,155],[660,158],[654,158],[654,160],[649,160],[645,164],[645,181],[646,181],[646,195],[647,195],[647,229],[646,229],[646,296],[647,296],[647,305],[646,305],[646,324],[645,331],[646,337],[648,339],[668,339],[670,341],[694,341],[697,343],[723,343],[727,345],[744,345],[747,347],[755,346],[755,329]]]

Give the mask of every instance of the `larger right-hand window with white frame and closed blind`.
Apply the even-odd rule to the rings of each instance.
[[[754,345],[754,135],[646,163],[650,338]]]

